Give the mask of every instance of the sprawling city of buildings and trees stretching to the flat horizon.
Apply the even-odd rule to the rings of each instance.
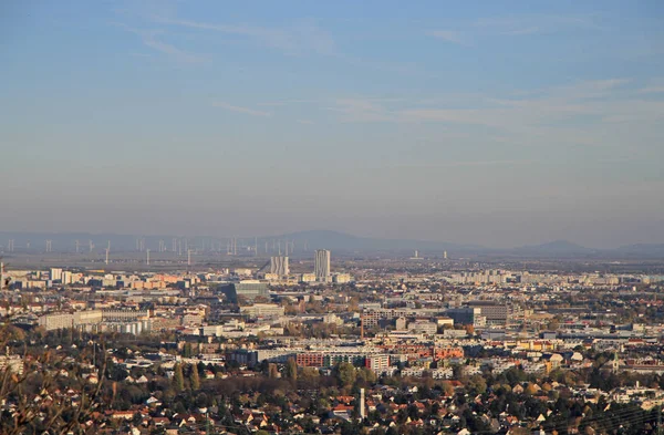
[[[2,431],[658,431],[662,259],[258,239],[8,240]]]

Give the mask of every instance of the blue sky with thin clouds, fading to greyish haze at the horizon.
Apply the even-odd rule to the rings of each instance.
[[[0,3],[0,229],[664,242],[664,2]]]

